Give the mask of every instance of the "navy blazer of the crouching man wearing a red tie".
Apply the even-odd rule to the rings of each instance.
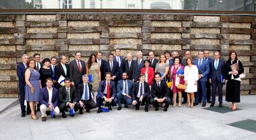
[[[100,95],[101,98],[103,98],[105,95],[103,94],[103,91],[106,88],[106,80],[101,80],[99,88],[98,88],[98,95]],[[110,96],[115,98],[116,97],[116,85],[113,81],[110,81],[109,83],[110,88]]]

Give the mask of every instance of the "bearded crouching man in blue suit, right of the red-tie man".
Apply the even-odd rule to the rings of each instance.
[[[117,111],[122,109],[122,101],[124,101],[124,107],[128,108],[128,105],[132,104],[132,80],[128,79],[127,72],[122,72],[122,80],[117,82],[117,93],[118,99]]]

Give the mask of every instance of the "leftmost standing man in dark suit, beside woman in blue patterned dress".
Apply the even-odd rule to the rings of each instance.
[[[22,63],[18,64],[17,66],[17,76],[19,77],[19,97],[20,97],[20,110],[21,110],[21,117],[25,117],[26,109],[24,106],[25,101],[25,69],[27,68],[27,61],[28,61],[28,55],[23,54],[22,55]],[[27,102],[27,114],[30,114],[30,106],[29,102]]]

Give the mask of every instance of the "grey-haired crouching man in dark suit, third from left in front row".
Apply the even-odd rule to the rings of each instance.
[[[91,109],[97,107],[96,103],[93,101],[93,91],[92,91],[92,84],[89,84],[89,78],[85,74],[82,77],[83,83],[79,84],[77,87],[77,94],[79,96],[79,105],[80,114],[83,114],[83,107],[85,108],[86,112],[90,112]]]

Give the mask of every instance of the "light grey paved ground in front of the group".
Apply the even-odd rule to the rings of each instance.
[[[0,101],[2,104],[6,100]],[[241,110],[228,109],[224,113],[215,112],[218,107],[209,111],[185,105],[169,107],[168,112],[152,108],[149,112],[143,108],[135,111],[134,107],[117,111],[114,107],[108,113],[97,114],[94,109],[83,115],[76,113],[74,118],[48,116],[46,122],[41,122],[41,117],[38,120],[30,119],[29,115],[20,117],[18,104],[0,114],[0,139],[256,139],[256,96],[241,96],[238,107]],[[245,121],[239,122],[242,120]],[[235,122],[250,131],[228,125]]]

